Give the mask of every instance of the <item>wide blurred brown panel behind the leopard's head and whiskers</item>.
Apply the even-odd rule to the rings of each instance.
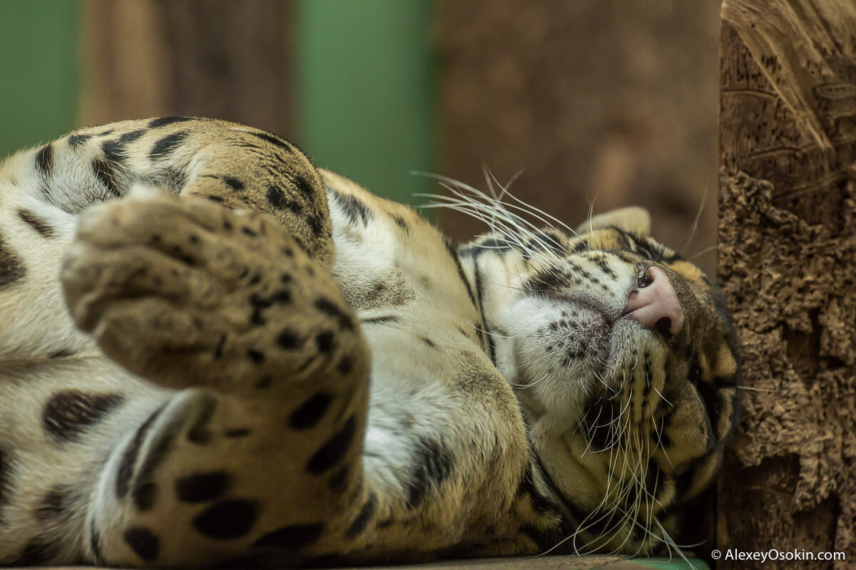
[[[438,2],[441,172],[486,190],[483,167],[522,170],[511,191],[570,226],[589,200],[644,206],[713,273],[719,4]],[[482,231],[455,212],[443,228]]]

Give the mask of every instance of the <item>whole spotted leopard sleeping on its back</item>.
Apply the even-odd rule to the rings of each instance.
[[[716,285],[638,208],[455,246],[222,120],[0,165],[0,564],[676,552],[735,423]],[[681,542],[681,541],[684,542]]]

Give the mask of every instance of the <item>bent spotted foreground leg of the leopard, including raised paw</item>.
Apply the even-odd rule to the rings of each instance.
[[[93,561],[296,557],[346,525],[363,499],[366,344],[330,273],[282,226],[132,192],[81,216],[62,282],[108,356],[180,390],[110,453],[87,514]]]

